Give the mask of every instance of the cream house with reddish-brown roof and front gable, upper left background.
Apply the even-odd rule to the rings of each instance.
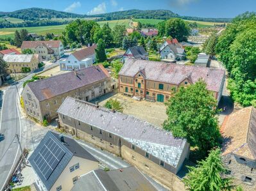
[[[23,41],[21,50],[30,49],[42,59],[59,59],[64,56],[64,47],[60,40]]]

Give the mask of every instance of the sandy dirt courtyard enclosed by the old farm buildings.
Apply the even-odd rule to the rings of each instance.
[[[108,94],[106,96],[101,96],[98,100],[95,101],[99,102],[99,105],[103,106],[110,98],[117,99],[122,103],[124,114],[130,114],[139,119],[148,121],[149,123],[152,123],[158,127],[162,127],[162,123],[164,123],[164,120],[167,119],[166,106],[164,103],[152,103],[146,102],[144,100],[139,102],[133,100],[133,98],[123,96],[120,93],[115,95]]]

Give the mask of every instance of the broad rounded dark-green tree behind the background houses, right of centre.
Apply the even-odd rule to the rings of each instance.
[[[166,21],[165,35],[177,38],[179,42],[187,41],[189,36],[189,26],[182,19],[172,18]]]

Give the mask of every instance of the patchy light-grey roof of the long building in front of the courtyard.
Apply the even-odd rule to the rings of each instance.
[[[171,132],[146,121],[71,97],[65,99],[57,112],[118,135],[173,167],[178,165],[186,143],[185,139],[175,138]]]

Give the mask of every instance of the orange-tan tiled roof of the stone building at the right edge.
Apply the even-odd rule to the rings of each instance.
[[[223,155],[235,153],[256,159],[256,109],[246,107],[226,116],[221,126]]]

